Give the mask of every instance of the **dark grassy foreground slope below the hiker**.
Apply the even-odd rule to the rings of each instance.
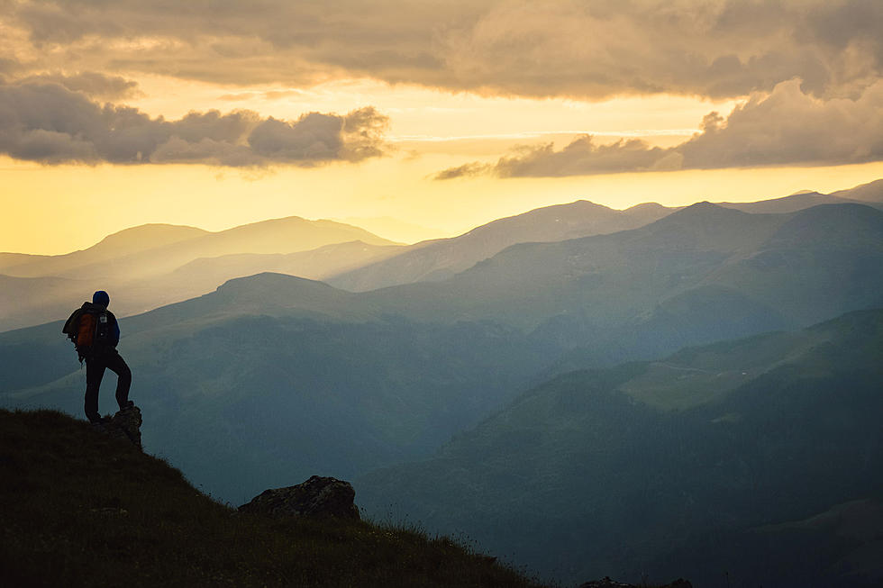
[[[59,412],[0,411],[0,585],[533,586],[448,538],[237,515]]]

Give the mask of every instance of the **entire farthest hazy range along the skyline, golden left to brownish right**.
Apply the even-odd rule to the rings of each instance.
[[[801,193],[721,205],[749,213],[791,213],[817,204],[850,202],[883,208],[883,180],[827,195]],[[116,312],[126,316],[207,294],[229,279],[262,272],[323,280],[356,292],[440,281],[517,243],[634,229],[678,210],[648,203],[617,211],[578,201],[412,246],[396,245],[340,222],[299,217],[214,233],[142,225],[62,256],[0,253],[0,330],[56,319],[99,287],[112,292]]]

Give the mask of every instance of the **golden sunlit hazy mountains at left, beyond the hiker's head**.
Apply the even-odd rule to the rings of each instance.
[[[143,225],[68,255],[4,254],[0,283],[10,289],[0,291],[0,330],[53,320],[98,288],[113,293],[125,316],[212,292],[234,277],[280,271],[321,279],[397,247],[358,227],[288,217],[214,233]],[[50,289],[47,278],[55,280]]]

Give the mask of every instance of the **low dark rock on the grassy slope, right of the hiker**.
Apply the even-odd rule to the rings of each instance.
[[[265,490],[239,507],[241,512],[268,514],[273,517],[338,517],[359,519],[359,507],[353,504],[356,491],[349,482],[336,478],[312,476],[303,484]]]

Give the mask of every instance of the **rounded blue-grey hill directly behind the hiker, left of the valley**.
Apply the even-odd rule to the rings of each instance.
[[[363,294],[278,274],[122,329],[132,398],[154,417],[145,445],[229,500],[328,467],[347,477],[429,455],[557,353],[511,328],[409,321]],[[59,330],[0,334],[0,403],[82,411],[83,373]]]

